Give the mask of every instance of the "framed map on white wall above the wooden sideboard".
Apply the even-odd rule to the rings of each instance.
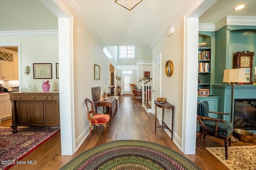
[[[52,79],[52,63],[33,63],[34,79]]]

